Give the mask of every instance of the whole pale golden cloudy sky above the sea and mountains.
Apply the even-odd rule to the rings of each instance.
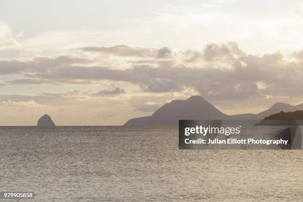
[[[0,125],[123,125],[201,95],[303,102],[302,0],[2,0]]]

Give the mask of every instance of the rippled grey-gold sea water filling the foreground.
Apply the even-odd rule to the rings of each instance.
[[[31,202],[301,202],[303,151],[179,151],[177,127],[0,127],[0,191],[34,191],[20,200]]]

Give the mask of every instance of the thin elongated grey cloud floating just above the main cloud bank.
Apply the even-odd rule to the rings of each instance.
[[[125,57],[154,57],[154,58],[168,58],[172,56],[172,52],[167,47],[157,48],[144,48],[133,47],[129,45],[118,45],[113,47],[84,47],[80,50],[89,52],[101,52],[104,54],[112,54]]]

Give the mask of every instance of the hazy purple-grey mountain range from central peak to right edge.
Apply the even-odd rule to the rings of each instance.
[[[193,96],[185,101],[174,100],[164,104],[151,116],[133,118],[127,121],[124,126],[159,126],[159,125],[178,125],[179,119],[232,119],[232,120],[259,120],[279,111],[303,110],[303,103],[291,105],[277,102],[269,109],[258,114],[246,113],[227,115],[215,108],[201,96]]]

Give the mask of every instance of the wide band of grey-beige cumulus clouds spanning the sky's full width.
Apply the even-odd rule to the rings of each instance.
[[[98,48],[122,55],[148,55],[150,48],[133,50],[129,46]],[[129,50],[131,49],[131,50]],[[90,49],[89,49],[90,50]],[[94,49],[93,49],[94,50]],[[139,53],[141,52],[141,53]],[[149,52],[149,53],[147,53]],[[169,52],[169,53],[168,53]],[[146,64],[133,63],[131,68],[114,69],[94,66],[94,61],[83,57],[39,57],[31,61],[1,60],[0,73],[20,73],[25,78],[6,84],[92,84],[97,82],[127,82],[142,92],[168,93],[194,89],[208,100],[243,100],[268,96],[303,97],[303,50],[287,60],[281,52],[253,55],[241,50],[236,43],[207,44],[202,51],[187,50],[172,53],[169,49],[156,50],[159,58],[175,55],[171,62],[157,63],[157,58]],[[159,55],[158,55],[159,54]],[[2,63],[1,63],[2,62]],[[90,65],[88,65],[90,64]],[[218,68],[219,67],[219,68]],[[260,85],[262,84],[262,85]],[[119,95],[120,88],[103,90],[96,95]]]

